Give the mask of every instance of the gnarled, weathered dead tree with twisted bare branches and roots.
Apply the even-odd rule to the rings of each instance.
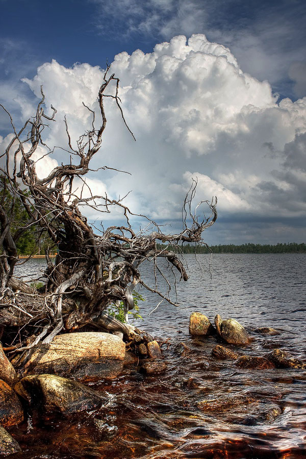
[[[111,319],[104,312],[105,309],[116,301],[123,301],[125,312],[133,309],[132,293],[137,285],[142,285],[156,292],[162,299],[172,302],[167,294],[159,292],[157,285],[150,287],[142,281],[140,264],[150,259],[155,269],[159,269],[156,260],[158,257],[164,257],[179,271],[181,278],[187,281],[188,275],[181,257],[172,248],[182,242],[203,243],[203,230],[211,226],[217,218],[216,200],[201,201],[192,211],[195,181],[184,202],[183,230],[179,234],[168,235],[163,234],[161,228],[145,216],[142,217],[155,226],[155,231],[150,234],[144,231],[136,234],[129,220],[129,217],[135,214],[122,200],[92,194],[85,198],[82,197],[82,191],[79,194],[73,191],[75,178],[81,179],[84,187],[87,186],[83,177],[91,170],[90,162],[100,149],[107,123],[105,97],[111,97],[115,101],[123,122],[129,129],[120,106],[119,79],[115,78],[114,74],[109,76],[108,70],[98,91],[101,115],[99,129],[95,128],[95,113],[87,107],[92,114],[92,124],[74,146],[65,118],[69,159],[66,164],[62,163],[55,167],[43,179],[36,174],[33,155],[39,145],[46,147],[43,142],[43,130],[46,123],[55,121],[56,109],[51,106],[52,116],[44,113],[44,94],[41,89],[42,98],[36,115],[25,122],[18,132],[9,115],[14,136],[6,151],[2,153],[5,165],[1,171],[6,177],[12,196],[21,200],[29,216],[23,230],[35,224],[48,234],[57,247],[55,261],[52,262],[47,257],[44,294],[33,293],[29,286],[24,286],[21,282],[16,286],[13,268],[18,260],[15,246],[18,234],[11,234],[10,216],[0,205],[0,325],[6,326],[7,346],[11,345],[8,330],[12,327],[22,329],[18,336],[19,346],[16,345],[16,352],[25,355],[29,355],[38,342],[52,341],[62,330],[78,330],[85,325],[114,329],[114,324],[110,325]],[[114,95],[106,94],[106,90],[111,86],[114,88]],[[84,106],[86,107],[85,104]],[[132,132],[131,135],[134,137]],[[105,166],[101,169],[106,168]],[[29,191],[27,195],[24,194],[24,189]],[[203,215],[200,219],[196,212],[202,203],[207,203],[210,215]],[[80,211],[80,207],[84,205],[102,213],[110,212],[112,207],[120,208],[126,223],[123,226],[110,226],[100,232],[94,232]],[[19,233],[21,232],[22,228]],[[170,245],[171,250],[167,246],[158,250],[157,242]],[[29,310],[27,304],[33,300],[33,295],[36,295],[36,306]],[[31,301],[27,301],[27,298]],[[18,301],[21,305],[18,305]],[[32,326],[32,330],[34,329],[32,336],[29,325]],[[122,329],[125,334],[132,333],[132,327],[128,325],[122,325]]]

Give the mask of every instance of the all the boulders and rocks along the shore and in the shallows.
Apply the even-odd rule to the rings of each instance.
[[[192,313],[190,316],[191,336],[201,339],[214,337],[211,358],[215,361],[232,361],[238,369],[246,371],[306,369],[305,361],[278,348],[264,355],[249,355],[248,345],[254,336],[261,334],[273,337],[279,335],[279,331],[257,327],[250,333],[237,320],[222,320],[218,314],[215,326],[201,313]],[[188,358],[191,354],[188,344],[173,344],[177,355]],[[106,406],[107,394],[88,385],[94,386],[101,380],[114,380],[123,368],[154,377],[167,371],[167,362],[163,359],[159,343],[154,339],[148,341],[143,338],[124,343],[121,337],[109,333],[81,332],[59,335],[52,343],[39,345],[21,372],[18,365],[14,368],[14,361],[8,360],[0,346],[0,454],[6,456],[21,451],[6,428],[26,420],[29,414],[38,419],[52,413],[69,417],[97,406]],[[196,382],[190,378],[186,384],[193,387]],[[236,403],[251,402],[232,398],[228,397],[226,401],[203,399],[197,403],[197,407],[206,412],[220,409],[220,406],[226,409],[226,406]],[[274,415],[277,416],[277,413]]]

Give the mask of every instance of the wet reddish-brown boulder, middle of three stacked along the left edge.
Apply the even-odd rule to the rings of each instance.
[[[0,424],[8,427],[23,421],[19,398],[5,382],[0,380]]]

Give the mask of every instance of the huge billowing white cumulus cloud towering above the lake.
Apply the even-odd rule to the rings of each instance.
[[[228,240],[225,233],[233,227],[230,221],[241,222],[235,234],[242,242],[250,240],[254,224],[248,224],[244,216],[261,222],[264,231],[257,232],[257,241],[275,242],[280,234],[283,240],[296,236],[306,212],[302,166],[306,98],[278,103],[268,82],[243,72],[229,48],[202,34],[188,41],[182,35],[174,37],[148,54],[139,49],[132,55],[120,53],[111,71],[120,78],[125,118],[137,142],[108,99],[108,125],[92,167],[107,164],[132,176],[92,173],[89,179],[96,181],[94,188],[113,197],[132,190],[125,202],[134,212],[176,228],[194,176],[200,199],[219,197],[220,223],[212,242]],[[52,103],[58,109],[58,121],[47,134],[48,144],[67,145],[64,113],[74,139],[89,127],[91,113],[82,102],[97,111],[102,78],[98,67],[77,64],[68,69],[53,61],[39,67],[32,80],[24,80],[37,96],[43,85],[46,106]],[[20,106],[28,114],[31,104],[21,101]],[[53,158],[60,163],[63,155],[63,150],[56,149]],[[91,212],[90,218],[94,217]],[[274,226],[267,218],[274,219]],[[227,229],[222,220],[227,221]],[[277,232],[280,225],[283,230]],[[291,228],[286,237],[285,227]],[[300,235],[294,239],[302,239]]]

